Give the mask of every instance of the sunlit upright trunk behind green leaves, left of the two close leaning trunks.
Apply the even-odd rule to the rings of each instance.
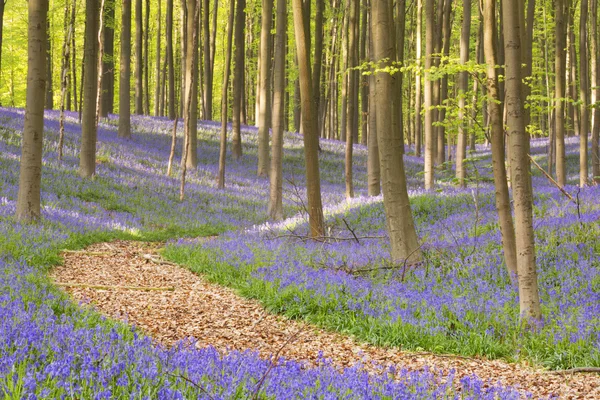
[[[530,0],[531,1],[531,0]],[[492,6],[494,6],[492,2]],[[493,27],[489,28],[493,32]],[[471,0],[463,0],[463,24],[460,34],[460,63],[466,65],[469,62],[469,38],[471,37]],[[491,57],[491,56],[489,56]],[[495,60],[495,55],[493,56]],[[494,70],[495,73],[495,70]],[[488,79],[496,79],[496,76]],[[489,84],[489,83],[488,83]],[[464,161],[467,155],[467,132],[465,122],[465,96],[469,87],[469,73],[467,71],[458,74],[458,139],[456,144],[456,179],[459,187],[465,187],[466,168]],[[497,88],[496,88],[497,90]],[[504,165],[504,164],[503,164]]]

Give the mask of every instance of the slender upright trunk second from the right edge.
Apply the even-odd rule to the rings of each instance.
[[[594,15],[594,18],[597,16]],[[588,0],[581,0],[580,20],[579,20],[579,101],[581,110],[581,130],[579,131],[579,186],[587,185],[588,179],[588,132],[589,132],[589,115],[588,115],[588,56],[587,56],[587,19],[588,19]]]

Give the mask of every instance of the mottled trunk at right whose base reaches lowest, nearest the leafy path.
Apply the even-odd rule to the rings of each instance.
[[[533,190],[529,162],[529,133],[523,118],[521,90],[521,38],[517,2],[503,1],[504,52],[506,56],[507,126],[510,138],[510,167],[515,209],[515,238],[519,281],[519,308],[527,323],[542,317],[535,265],[533,234]]]

